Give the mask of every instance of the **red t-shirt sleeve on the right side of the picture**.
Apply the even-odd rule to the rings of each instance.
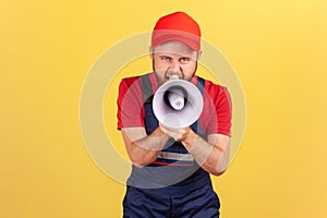
[[[214,114],[209,121],[207,134],[223,134],[231,136],[232,102],[228,89],[217,86],[210,93],[214,104]]]

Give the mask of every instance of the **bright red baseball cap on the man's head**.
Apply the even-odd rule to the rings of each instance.
[[[195,51],[201,50],[201,29],[196,21],[184,12],[174,12],[160,17],[153,32],[152,47],[170,40],[179,40]]]

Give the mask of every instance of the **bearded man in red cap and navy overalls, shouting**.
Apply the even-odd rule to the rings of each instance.
[[[184,12],[165,15],[152,35],[154,72],[120,84],[118,129],[133,164],[124,217],[219,217],[209,174],[229,162],[231,101],[227,88],[195,75],[199,57],[198,24]],[[154,116],[154,94],[172,76],[202,93],[203,111],[191,126],[168,128]]]

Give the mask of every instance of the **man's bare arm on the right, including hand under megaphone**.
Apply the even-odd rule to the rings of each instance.
[[[203,140],[191,128],[173,130],[160,125],[161,131],[181,142],[196,162],[207,172],[220,175],[229,164],[230,137],[222,134],[210,134]]]

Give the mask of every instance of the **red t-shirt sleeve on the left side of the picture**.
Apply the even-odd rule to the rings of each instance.
[[[117,129],[144,126],[142,90],[137,77],[123,78],[119,85]]]

